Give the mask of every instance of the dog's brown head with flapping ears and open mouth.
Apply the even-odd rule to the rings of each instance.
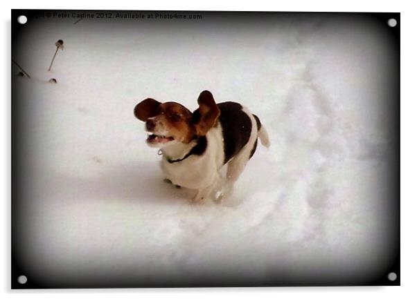
[[[208,90],[200,93],[197,102],[199,108],[193,113],[175,102],[148,98],[137,104],[134,115],[145,122],[145,130],[150,133],[148,144],[159,148],[174,141],[188,144],[196,135],[206,135],[215,126],[220,110]]]

